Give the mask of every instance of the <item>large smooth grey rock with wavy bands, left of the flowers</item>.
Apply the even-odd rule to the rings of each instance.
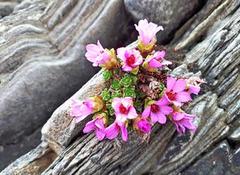
[[[2,167],[7,145],[21,149],[21,140],[96,73],[84,59],[85,45],[99,39],[116,46],[127,17],[118,0],[25,0],[0,23]]]

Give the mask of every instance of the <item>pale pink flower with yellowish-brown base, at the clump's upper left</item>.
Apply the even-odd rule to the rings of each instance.
[[[97,44],[88,44],[86,46],[86,58],[93,63],[93,66],[100,66],[107,69],[117,65],[115,51],[104,49],[99,41]]]

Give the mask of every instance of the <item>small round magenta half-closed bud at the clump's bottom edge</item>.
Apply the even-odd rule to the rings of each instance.
[[[149,123],[149,121],[146,118],[138,117],[134,121],[134,128],[139,130],[140,132],[147,134],[150,133],[152,125]]]

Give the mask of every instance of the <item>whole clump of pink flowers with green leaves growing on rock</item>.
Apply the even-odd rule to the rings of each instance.
[[[135,25],[139,32],[136,48],[104,49],[97,44],[86,46],[86,58],[102,68],[108,85],[99,96],[83,101],[73,100],[70,115],[80,122],[92,115],[84,133],[95,132],[99,140],[114,139],[119,134],[124,141],[128,132],[149,135],[154,124],[172,122],[179,133],[195,131],[194,115],[182,106],[200,91],[203,81],[169,75],[166,52],[156,49],[156,34],[161,26],[146,19]]]

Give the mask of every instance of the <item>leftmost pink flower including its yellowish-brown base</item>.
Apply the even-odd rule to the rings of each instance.
[[[70,116],[74,117],[76,123],[85,119],[88,115],[93,114],[103,108],[103,101],[99,96],[88,98],[84,101],[72,100]]]

